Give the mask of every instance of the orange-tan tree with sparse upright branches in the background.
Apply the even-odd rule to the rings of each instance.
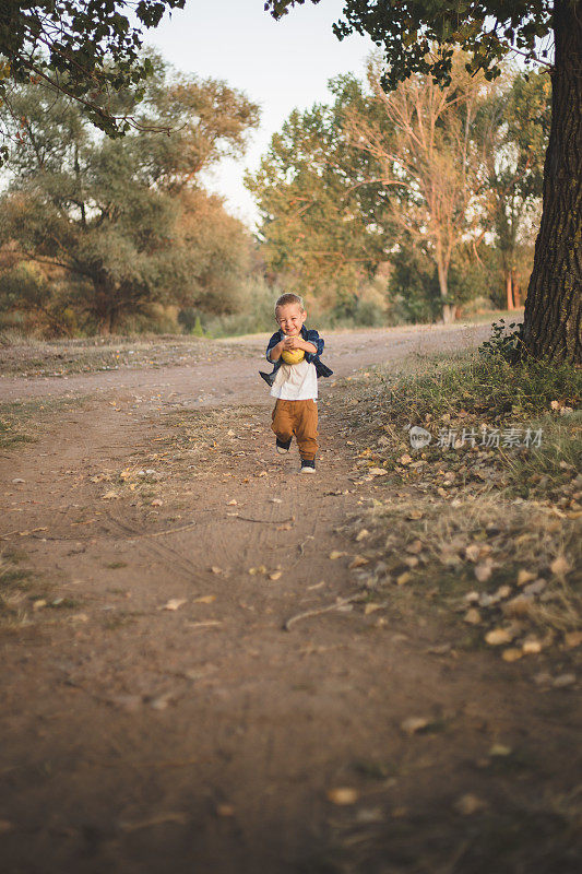
[[[471,76],[456,56],[448,85],[439,86],[418,73],[387,93],[380,73],[370,67],[376,102],[390,129],[360,111],[348,110],[347,129],[355,149],[369,153],[380,176],[396,196],[389,203],[394,224],[425,247],[437,265],[442,319],[454,319],[449,295],[449,269],[455,249],[471,234],[479,234],[477,189],[480,151],[475,129],[484,98],[480,76]]]

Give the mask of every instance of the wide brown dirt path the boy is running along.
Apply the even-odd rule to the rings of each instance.
[[[385,351],[379,334],[333,342],[338,374]],[[0,630],[4,870],[577,870],[560,818],[575,728],[559,690],[541,695],[526,665],[460,656],[454,622],[390,603],[283,629],[359,591],[343,527],[382,495],[353,483],[334,389],[305,477],[295,452],[272,451],[260,386],[216,410],[226,376],[204,373],[96,377],[112,402],[69,410],[3,459],[4,556],[15,579],[31,571],[20,621]],[[195,427],[189,379],[209,395]],[[152,414],[154,388],[169,415]],[[408,734],[409,717],[439,730]],[[537,817],[541,783],[551,804]],[[557,838],[559,869],[543,852]]]

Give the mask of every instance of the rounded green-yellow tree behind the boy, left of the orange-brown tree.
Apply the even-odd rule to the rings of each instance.
[[[385,259],[385,192],[371,182],[379,175],[375,158],[355,152],[345,130],[346,108],[364,113],[369,98],[349,75],[330,88],[332,105],[290,114],[246,184],[261,210],[269,268],[321,306],[348,315]],[[370,106],[367,111],[373,114]]]

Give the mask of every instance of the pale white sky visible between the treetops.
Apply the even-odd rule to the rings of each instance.
[[[295,107],[307,108],[330,97],[326,83],[337,73],[364,74],[372,49],[369,39],[352,36],[340,43],[332,23],[343,0],[306,2],[276,22],[263,0],[186,0],[146,42],[177,69],[224,79],[261,106],[261,127],[252,134],[242,162],[225,161],[207,187],[226,198],[229,212],[253,225],[257,210],[242,185],[245,167],[254,169]]]

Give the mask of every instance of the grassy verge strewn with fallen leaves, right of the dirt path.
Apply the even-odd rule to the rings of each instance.
[[[418,609],[416,592],[459,613],[477,642],[502,629],[509,661],[582,642],[582,441],[580,373],[508,367],[464,355],[359,377],[344,383],[343,416],[360,450],[356,477],[390,495],[353,524],[356,536],[369,531],[359,543],[375,563],[361,579],[375,598],[397,591]],[[405,430],[515,422],[542,427],[542,446],[446,449],[433,440],[413,450]],[[387,475],[375,479],[378,469]]]

